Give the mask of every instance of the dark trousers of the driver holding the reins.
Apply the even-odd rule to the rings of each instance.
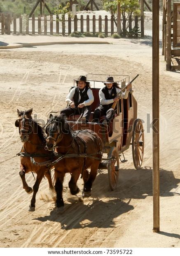
[[[91,115],[91,106],[85,106],[83,108],[79,107],[66,107],[65,109],[61,110],[61,114],[65,114],[65,116],[71,115],[81,115],[82,117],[86,118],[86,122],[89,122],[89,116]]]

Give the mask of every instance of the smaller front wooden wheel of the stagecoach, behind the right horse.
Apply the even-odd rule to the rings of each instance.
[[[111,190],[115,190],[119,178],[119,154],[116,147],[112,147],[108,154],[108,178]]]

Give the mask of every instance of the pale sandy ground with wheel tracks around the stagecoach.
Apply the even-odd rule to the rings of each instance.
[[[1,247],[180,247],[180,71],[167,72],[160,55],[161,232],[153,233],[151,38],[106,40],[112,44],[0,51]],[[44,179],[36,210],[28,212],[31,195],[22,188],[16,156],[22,147],[14,126],[16,109],[33,107],[37,119],[46,121],[49,111],[65,107],[72,79],[86,73],[129,74],[131,78],[139,73],[133,90],[138,118],[145,121],[143,168],[133,167],[130,148],[125,152],[128,162],[120,166],[117,189],[110,191],[106,170],[98,172],[92,198],[84,203],[69,193],[67,175],[61,213],[54,209]],[[33,186],[33,175],[26,177]],[[81,194],[82,180],[78,184]]]

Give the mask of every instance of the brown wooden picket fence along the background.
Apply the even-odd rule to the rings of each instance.
[[[129,35],[131,35],[134,28],[138,31],[140,19],[138,19],[137,16],[135,19],[129,17],[128,20],[126,17],[123,17],[121,22],[122,33],[124,36],[126,36],[127,31],[129,32]],[[111,16],[111,18],[108,19],[107,15],[105,15],[104,18],[99,15],[98,19],[95,15],[93,15],[91,19],[89,15],[86,16],[86,19],[84,19],[83,15],[80,17],[75,15],[74,18],[68,17],[66,19],[63,16],[59,19],[56,15],[44,17],[39,15],[38,17],[35,17],[33,14],[32,18],[29,18],[28,16],[20,16],[19,18],[16,18],[16,16],[10,17],[9,14],[5,17],[2,13],[0,16],[0,24],[0,33],[6,33],[8,35],[11,33],[20,33],[31,35],[56,34],[66,36],[74,31],[78,31],[81,33],[91,32],[93,33],[93,36],[98,32],[105,33],[105,36],[112,36],[112,34],[117,33],[117,26],[115,25],[113,17]],[[138,37],[138,33],[135,33],[135,36]]]

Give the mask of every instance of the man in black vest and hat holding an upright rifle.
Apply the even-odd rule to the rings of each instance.
[[[119,96],[127,99],[130,84],[127,85],[125,92],[121,92],[121,95],[118,95],[121,89],[119,88],[119,85],[114,82],[112,76],[107,77],[106,81],[103,83],[105,84],[105,87],[99,90],[100,106],[94,111],[93,121],[99,122],[100,117],[105,115],[103,123],[106,124],[115,116],[115,109],[111,108],[113,102],[118,102],[120,99]]]

